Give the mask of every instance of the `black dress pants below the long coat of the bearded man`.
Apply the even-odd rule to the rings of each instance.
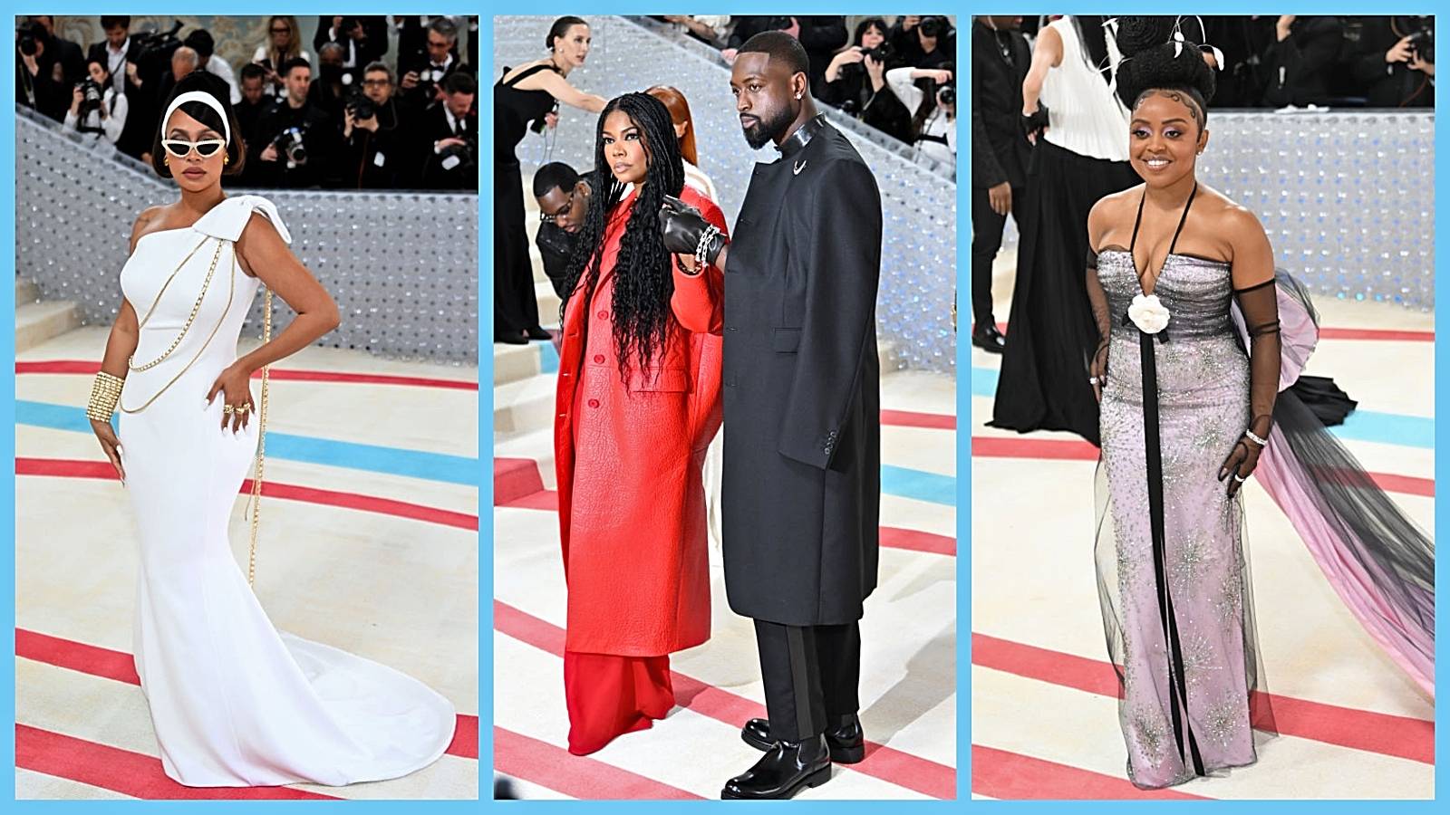
[[[856,713],[861,703],[861,629],[755,621],[770,737],[803,741]]]

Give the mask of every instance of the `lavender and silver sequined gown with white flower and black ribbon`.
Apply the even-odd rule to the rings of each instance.
[[[1148,341],[1161,457],[1159,558],[1146,477],[1143,335],[1122,325],[1140,293],[1131,254],[1102,251],[1098,278],[1114,315],[1098,477],[1103,626],[1122,682],[1128,777],[1161,787],[1254,761],[1250,692],[1259,660],[1243,512],[1218,480],[1248,422],[1248,358],[1230,323],[1228,264],[1170,254],[1153,291],[1172,315],[1167,341]]]

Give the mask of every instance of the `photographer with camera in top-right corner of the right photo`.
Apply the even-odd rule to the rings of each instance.
[[[1369,107],[1434,107],[1434,17],[1364,17],[1351,61]]]

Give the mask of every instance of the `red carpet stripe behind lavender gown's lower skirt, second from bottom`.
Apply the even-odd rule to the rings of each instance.
[[[1061,651],[972,634],[972,664],[1015,676],[1074,687],[1099,696],[1118,696],[1112,667]],[[1280,734],[1433,764],[1434,722],[1325,705],[1292,696],[1269,695]]]

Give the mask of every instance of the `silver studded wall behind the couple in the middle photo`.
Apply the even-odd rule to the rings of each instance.
[[[554,17],[493,17],[493,77],[506,65],[547,55],[544,38]],[[745,145],[729,90],[729,68],[703,44],[651,29],[632,19],[590,16],[589,59],[570,84],[606,99],[667,84],[690,103],[700,168],[719,191],[721,209],[734,223],[751,168],[771,161],[770,148]],[[937,164],[905,145],[828,110],[876,173],[884,209],[882,281],[876,303],[879,336],[898,367],[954,371],[956,334],[951,297],[957,280],[957,186]],[[566,161],[576,170],[593,164],[596,117],[576,107],[542,136],[529,133],[518,148],[528,175],[541,164]]]

